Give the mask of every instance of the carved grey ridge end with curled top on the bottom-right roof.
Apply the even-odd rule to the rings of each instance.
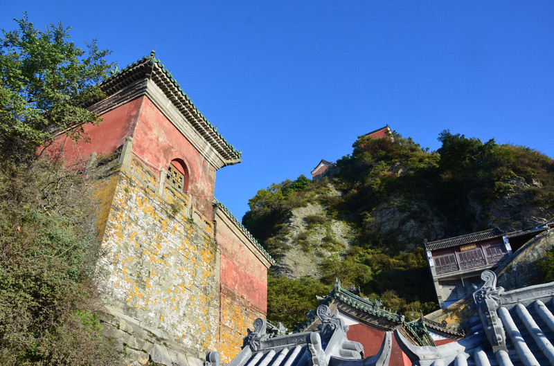
[[[506,333],[497,315],[497,309],[500,306],[500,294],[504,292],[504,288],[497,288],[497,275],[493,271],[483,271],[481,280],[485,281],[485,284],[473,293],[479,311],[479,318],[481,318],[487,338],[490,345],[492,345],[492,351],[494,353],[500,350],[508,351],[506,348]]]

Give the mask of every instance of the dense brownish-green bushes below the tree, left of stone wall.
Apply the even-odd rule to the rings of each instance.
[[[60,163],[0,166],[0,363],[112,365],[101,336],[87,181]]]

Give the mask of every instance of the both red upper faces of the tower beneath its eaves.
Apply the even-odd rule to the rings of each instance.
[[[161,111],[145,96],[136,98],[116,109],[104,113],[98,125],[85,125],[90,143],[71,142],[66,136],[57,140],[57,147],[68,163],[87,161],[92,152],[98,155],[114,152],[133,138],[132,152],[147,163],[154,176],[168,170],[171,161],[179,158],[188,170],[188,192],[193,205],[204,214],[212,215],[215,167],[181,134]]]

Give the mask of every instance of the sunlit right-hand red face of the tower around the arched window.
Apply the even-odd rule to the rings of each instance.
[[[149,165],[164,170],[168,169],[173,159],[181,158],[190,174],[188,193],[192,195],[193,205],[205,217],[211,217],[215,167],[148,98],[142,99],[141,113],[133,136],[133,152]]]

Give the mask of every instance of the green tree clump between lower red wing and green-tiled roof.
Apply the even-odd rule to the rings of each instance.
[[[292,280],[287,277],[267,276],[267,318],[295,329],[305,321],[307,313],[319,305],[316,296],[325,296],[331,286],[325,286],[309,277]]]

